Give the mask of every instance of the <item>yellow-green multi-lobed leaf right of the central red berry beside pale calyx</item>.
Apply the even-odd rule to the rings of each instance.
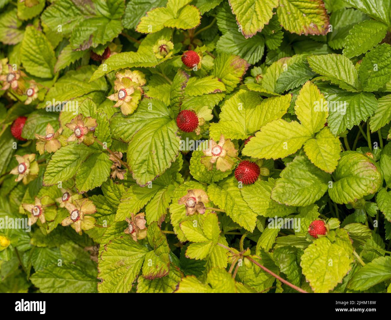
[[[261,102],[252,91],[239,90],[221,107],[219,123],[211,123],[210,135],[216,141],[225,138],[246,139],[265,124],[287,112],[291,95],[271,97]]]

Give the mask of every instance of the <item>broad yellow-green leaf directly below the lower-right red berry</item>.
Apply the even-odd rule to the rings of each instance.
[[[327,293],[342,282],[352,268],[353,248],[343,229],[336,230],[333,243],[328,238],[319,238],[304,250],[300,266],[315,293]]]

